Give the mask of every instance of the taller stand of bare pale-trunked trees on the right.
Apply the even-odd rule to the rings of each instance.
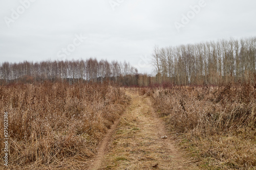
[[[152,56],[160,82],[224,85],[256,79],[256,37],[155,46]]]

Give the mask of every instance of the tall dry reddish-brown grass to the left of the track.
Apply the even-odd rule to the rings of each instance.
[[[127,103],[119,88],[106,83],[0,86],[0,97],[0,112],[9,113],[10,169],[86,168]],[[1,139],[3,132],[1,126]]]

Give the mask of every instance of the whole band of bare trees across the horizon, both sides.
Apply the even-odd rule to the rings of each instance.
[[[97,59],[0,64],[0,83],[112,81],[126,86],[256,83],[256,37],[154,47],[155,76],[139,74],[129,62]]]

